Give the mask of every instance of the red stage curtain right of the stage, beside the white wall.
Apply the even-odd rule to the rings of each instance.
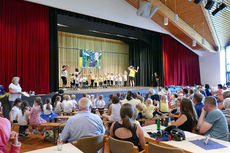
[[[168,35],[163,35],[162,49],[165,86],[200,84],[198,55]]]

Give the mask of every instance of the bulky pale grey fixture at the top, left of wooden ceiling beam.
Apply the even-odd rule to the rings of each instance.
[[[151,2],[139,0],[138,4],[139,4],[139,7],[138,7],[137,12],[136,12],[138,16],[151,18],[156,13],[156,11],[158,10],[157,6],[152,8]]]

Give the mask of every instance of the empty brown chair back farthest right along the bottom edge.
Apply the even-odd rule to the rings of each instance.
[[[182,149],[160,146],[160,145],[157,145],[157,144],[154,144],[151,142],[149,142],[147,150],[148,150],[147,153],[158,153],[158,152],[162,152],[162,153],[184,153],[184,151]]]

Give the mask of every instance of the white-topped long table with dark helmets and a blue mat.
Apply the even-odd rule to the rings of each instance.
[[[164,129],[164,127],[162,127],[162,129]],[[204,139],[205,137],[202,135],[198,135],[198,134],[194,134],[194,133],[185,131],[186,140],[156,142],[147,133],[147,132],[156,132],[157,131],[157,125],[156,124],[145,126],[145,127],[143,127],[143,130],[144,130],[144,135],[145,135],[145,139],[147,142],[158,143],[159,145],[162,145],[162,146],[181,148],[184,150],[185,153],[230,153],[230,143],[226,142],[226,141],[210,138],[212,141],[215,141],[215,142],[218,142],[222,145],[227,146],[227,148],[205,150],[205,149],[189,142],[191,140]]]

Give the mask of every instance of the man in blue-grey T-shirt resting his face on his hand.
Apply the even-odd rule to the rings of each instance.
[[[227,120],[224,114],[217,108],[216,103],[216,99],[212,96],[205,98],[197,128],[201,134],[228,141]],[[206,115],[207,112],[208,114]]]

